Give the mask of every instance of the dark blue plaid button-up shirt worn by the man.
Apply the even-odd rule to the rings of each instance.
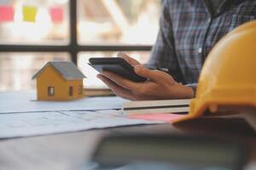
[[[167,70],[177,82],[196,83],[216,42],[255,19],[256,0],[164,0],[147,66]]]

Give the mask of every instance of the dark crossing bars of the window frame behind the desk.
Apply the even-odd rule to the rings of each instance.
[[[69,44],[67,45],[20,45],[0,44],[0,52],[67,52],[74,64],[78,64],[79,52],[94,51],[150,51],[152,45],[79,45],[78,42],[78,0],[69,0]]]

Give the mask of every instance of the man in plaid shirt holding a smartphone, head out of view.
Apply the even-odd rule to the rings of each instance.
[[[147,65],[157,70],[119,54],[148,81],[131,82],[107,71],[98,77],[125,99],[193,98],[212,47],[229,31],[255,19],[256,0],[164,0],[160,31]]]

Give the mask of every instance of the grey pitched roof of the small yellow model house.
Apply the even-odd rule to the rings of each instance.
[[[65,80],[79,80],[79,79],[85,78],[84,74],[81,71],[79,71],[77,66],[74,65],[72,62],[51,61],[51,62],[48,62],[46,65],[44,65],[44,67],[40,71],[38,71],[32,77],[32,79],[37,78],[48,66],[52,66],[57,72],[61,74],[61,76]]]

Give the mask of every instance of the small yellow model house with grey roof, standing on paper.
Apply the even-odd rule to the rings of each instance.
[[[38,100],[71,100],[84,96],[84,75],[72,62],[48,62],[37,79]]]

